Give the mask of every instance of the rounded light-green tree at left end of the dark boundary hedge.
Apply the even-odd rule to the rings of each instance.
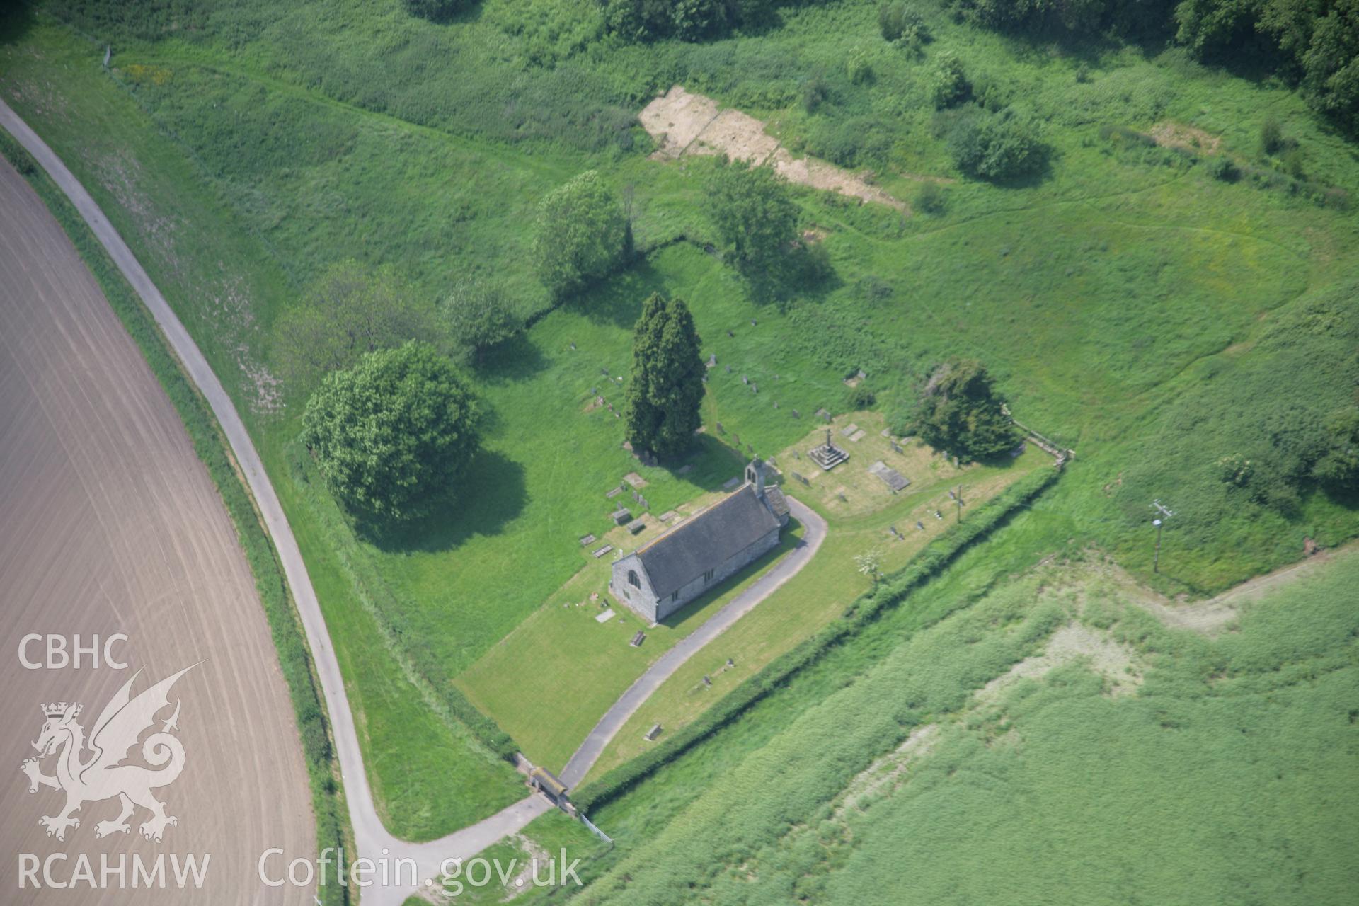
[[[587,170],[538,204],[533,259],[554,299],[603,277],[631,254],[632,231],[617,196]]]

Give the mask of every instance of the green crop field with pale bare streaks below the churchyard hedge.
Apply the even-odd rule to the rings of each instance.
[[[584,902],[1345,902],[1356,577],[1337,557],[1215,638],[1102,564],[1007,580],[780,725]],[[1072,625],[1108,651],[977,691]]]

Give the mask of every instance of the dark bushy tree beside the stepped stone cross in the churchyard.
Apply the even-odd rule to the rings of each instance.
[[[950,359],[920,391],[911,429],[932,447],[961,459],[1014,450],[1018,429],[1000,410],[991,375],[973,359]]]

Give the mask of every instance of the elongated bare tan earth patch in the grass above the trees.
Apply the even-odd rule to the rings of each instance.
[[[720,110],[712,98],[690,94],[681,86],[671,86],[670,91],[643,107],[637,118],[656,140],[652,153],[656,160],[724,153],[754,164],[768,163],[790,182],[909,212],[902,201],[848,170],[815,158],[794,158],[765,132],[760,120],[739,110]]]

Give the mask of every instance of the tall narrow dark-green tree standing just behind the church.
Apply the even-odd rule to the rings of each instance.
[[[626,431],[633,450],[675,456],[701,424],[703,356],[693,315],[682,299],[659,293],[641,307],[632,341]]]

